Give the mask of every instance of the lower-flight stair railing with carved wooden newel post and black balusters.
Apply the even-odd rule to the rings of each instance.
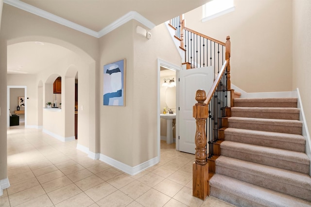
[[[197,90],[195,99],[198,103],[193,106],[193,117],[196,120],[194,138],[196,147],[192,194],[203,200],[209,195],[207,158],[214,155],[214,144],[218,141],[219,129],[223,124],[222,118],[225,117],[225,108],[228,107],[228,91],[231,89],[230,52],[230,37],[227,36],[225,62],[207,96],[204,90]],[[232,92],[230,98],[232,99]],[[231,103],[231,100],[229,101]]]

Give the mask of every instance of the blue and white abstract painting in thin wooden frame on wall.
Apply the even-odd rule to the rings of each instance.
[[[125,106],[126,59],[104,65],[103,105]]]

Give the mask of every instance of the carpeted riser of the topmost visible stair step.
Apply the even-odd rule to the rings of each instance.
[[[297,102],[234,102],[235,107],[297,108]]]

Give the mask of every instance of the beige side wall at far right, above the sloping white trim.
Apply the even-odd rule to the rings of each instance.
[[[293,90],[299,88],[311,131],[311,1],[293,1]]]

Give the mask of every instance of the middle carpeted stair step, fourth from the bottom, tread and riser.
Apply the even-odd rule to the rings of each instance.
[[[299,134],[226,128],[225,140],[305,152],[306,139]]]

